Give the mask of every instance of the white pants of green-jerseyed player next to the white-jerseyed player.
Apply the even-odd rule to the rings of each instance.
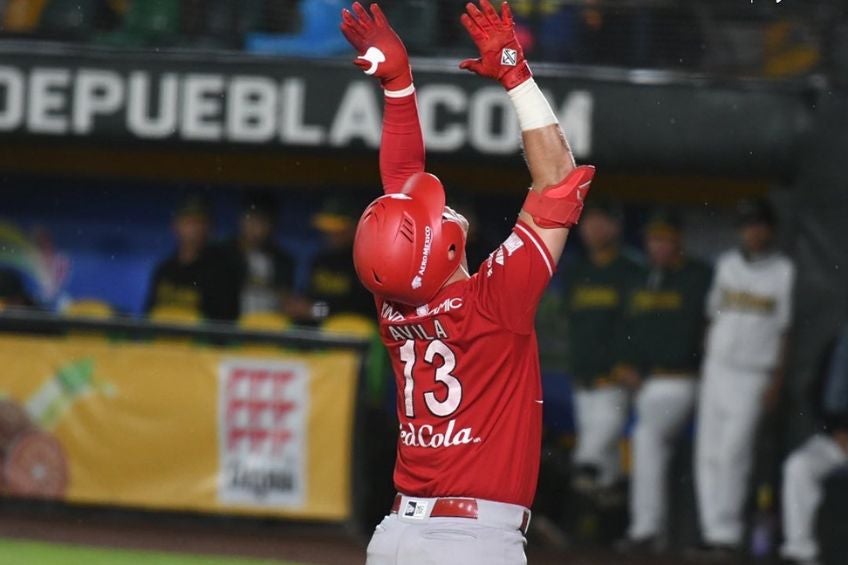
[[[636,396],[633,477],[630,484],[630,539],[664,532],[668,508],[668,464],[672,448],[695,406],[694,376],[653,376]]]

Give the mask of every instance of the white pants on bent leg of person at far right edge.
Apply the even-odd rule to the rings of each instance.
[[[825,477],[848,463],[848,453],[830,436],[811,437],[783,464],[783,531],[780,548],[786,559],[813,560],[819,547],[815,537],[816,511]]]

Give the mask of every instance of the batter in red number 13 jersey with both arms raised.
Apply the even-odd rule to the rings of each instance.
[[[473,274],[468,224],[424,173],[409,61],[380,8],[342,14],[356,65],[385,91],[385,194],[363,213],[354,264],[373,294],[398,383],[391,513],[368,565],[524,564],[539,469],[542,390],[536,306],[577,222],[594,169],[576,167],[533,80],[509,6],[466,6],[480,57],[460,64],[500,82],[515,107],[532,188],[512,233]]]

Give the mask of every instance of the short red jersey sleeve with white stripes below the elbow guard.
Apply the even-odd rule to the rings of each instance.
[[[477,273],[481,312],[516,333],[529,334],[555,268],[539,236],[518,222]]]

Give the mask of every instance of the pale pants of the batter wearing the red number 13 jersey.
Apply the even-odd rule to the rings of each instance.
[[[366,565],[527,565],[520,506],[478,499],[476,520],[431,518],[435,499],[404,497],[401,508],[409,500],[423,501],[427,511],[383,518],[368,544]]]

